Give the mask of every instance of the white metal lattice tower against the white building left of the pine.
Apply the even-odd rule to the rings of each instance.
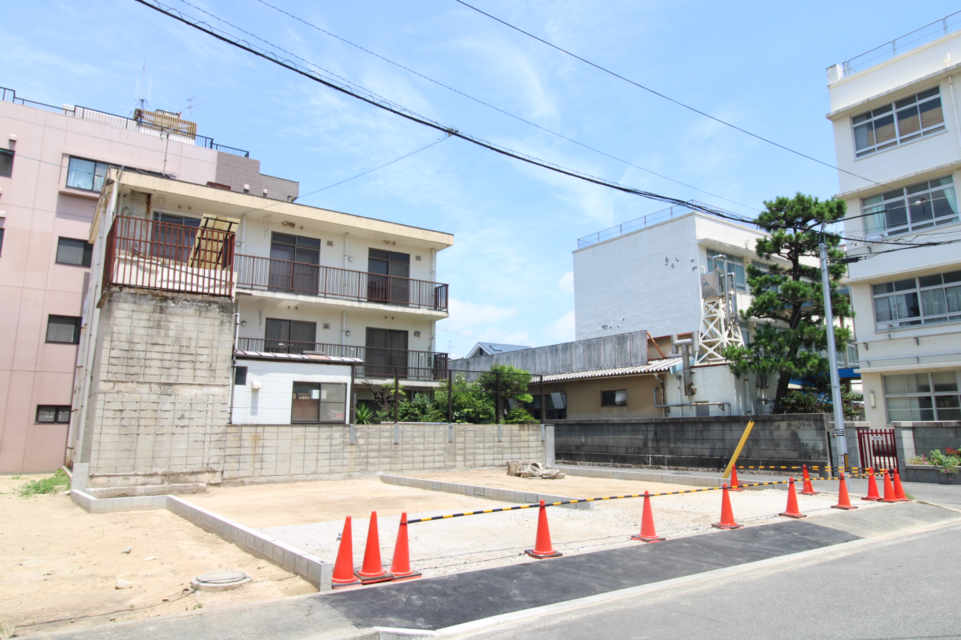
[[[737,322],[734,305],[734,274],[718,269],[718,260],[726,256],[713,256],[714,271],[701,274],[701,332],[698,353],[699,363],[723,363],[727,346],[743,346],[741,328]]]

